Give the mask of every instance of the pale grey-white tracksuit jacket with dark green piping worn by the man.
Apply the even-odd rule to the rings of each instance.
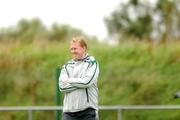
[[[63,112],[77,112],[88,107],[98,109],[97,78],[99,65],[88,54],[84,59],[70,60],[59,76],[59,88],[64,92]]]

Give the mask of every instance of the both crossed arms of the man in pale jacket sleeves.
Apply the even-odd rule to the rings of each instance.
[[[59,88],[61,92],[71,92],[76,89],[87,88],[91,86],[99,75],[99,66],[97,62],[86,69],[86,74],[79,78],[69,77],[68,71],[63,68],[59,77]]]

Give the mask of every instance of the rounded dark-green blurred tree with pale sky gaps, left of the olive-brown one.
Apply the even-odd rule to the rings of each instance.
[[[151,11],[148,3],[131,0],[121,3],[110,17],[105,18],[109,35],[119,38],[132,36],[138,39],[149,37],[152,31]]]

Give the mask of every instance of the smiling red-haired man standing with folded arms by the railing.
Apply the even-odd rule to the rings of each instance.
[[[87,53],[83,38],[70,42],[72,60],[61,70],[59,88],[64,93],[63,120],[97,120],[99,65]]]

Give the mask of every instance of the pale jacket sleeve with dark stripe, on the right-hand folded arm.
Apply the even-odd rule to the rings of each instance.
[[[91,61],[89,64],[90,65],[82,77],[69,79],[71,85],[78,88],[87,88],[90,87],[93,83],[97,82],[99,75],[99,65],[96,61]]]

